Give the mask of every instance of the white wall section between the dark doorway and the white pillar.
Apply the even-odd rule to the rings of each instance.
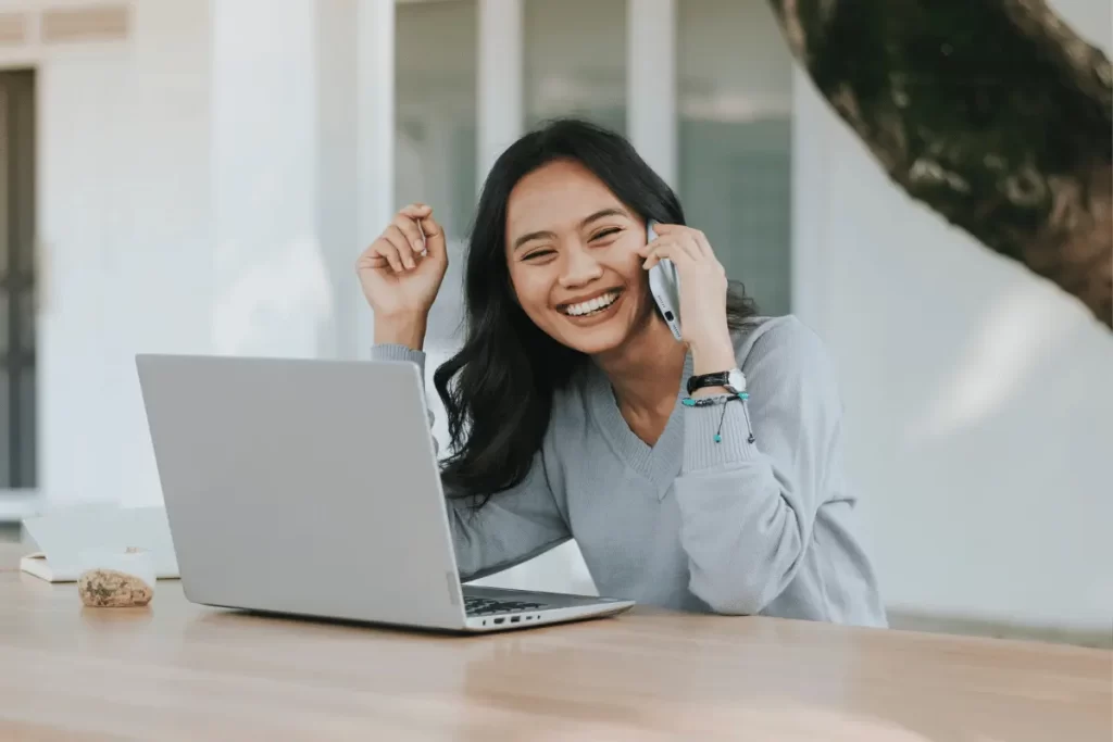
[[[158,498],[132,354],[208,350],[208,14],[135,4],[128,41],[41,50],[40,493]]]

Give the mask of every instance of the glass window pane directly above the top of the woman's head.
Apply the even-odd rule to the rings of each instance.
[[[525,0],[525,126],[558,116],[626,132],[627,0]]]

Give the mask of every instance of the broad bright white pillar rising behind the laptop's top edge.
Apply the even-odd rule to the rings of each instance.
[[[210,28],[215,349],[313,357],[332,315],[317,236],[314,2],[214,2]]]

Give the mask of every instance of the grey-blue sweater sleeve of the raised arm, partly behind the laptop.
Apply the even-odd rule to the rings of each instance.
[[[425,377],[425,354],[420,350],[402,345],[375,345],[372,358],[412,362]],[[427,415],[432,427],[433,412]],[[433,447],[437,448],[436,438]],[[479,580],[502,572],[572,537],[556,506],[552,485],[542,449],[520,484],[495,494],[482,507],[475,507],[482,493],[445,489],[461,580]]]

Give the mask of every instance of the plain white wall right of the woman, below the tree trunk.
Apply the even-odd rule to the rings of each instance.
[[[1053,4],[1110,49],[1107,2]],[[798,82],[798,311],[840,367],[886,598],[1109,630],[1113,334],[896,190]]]

